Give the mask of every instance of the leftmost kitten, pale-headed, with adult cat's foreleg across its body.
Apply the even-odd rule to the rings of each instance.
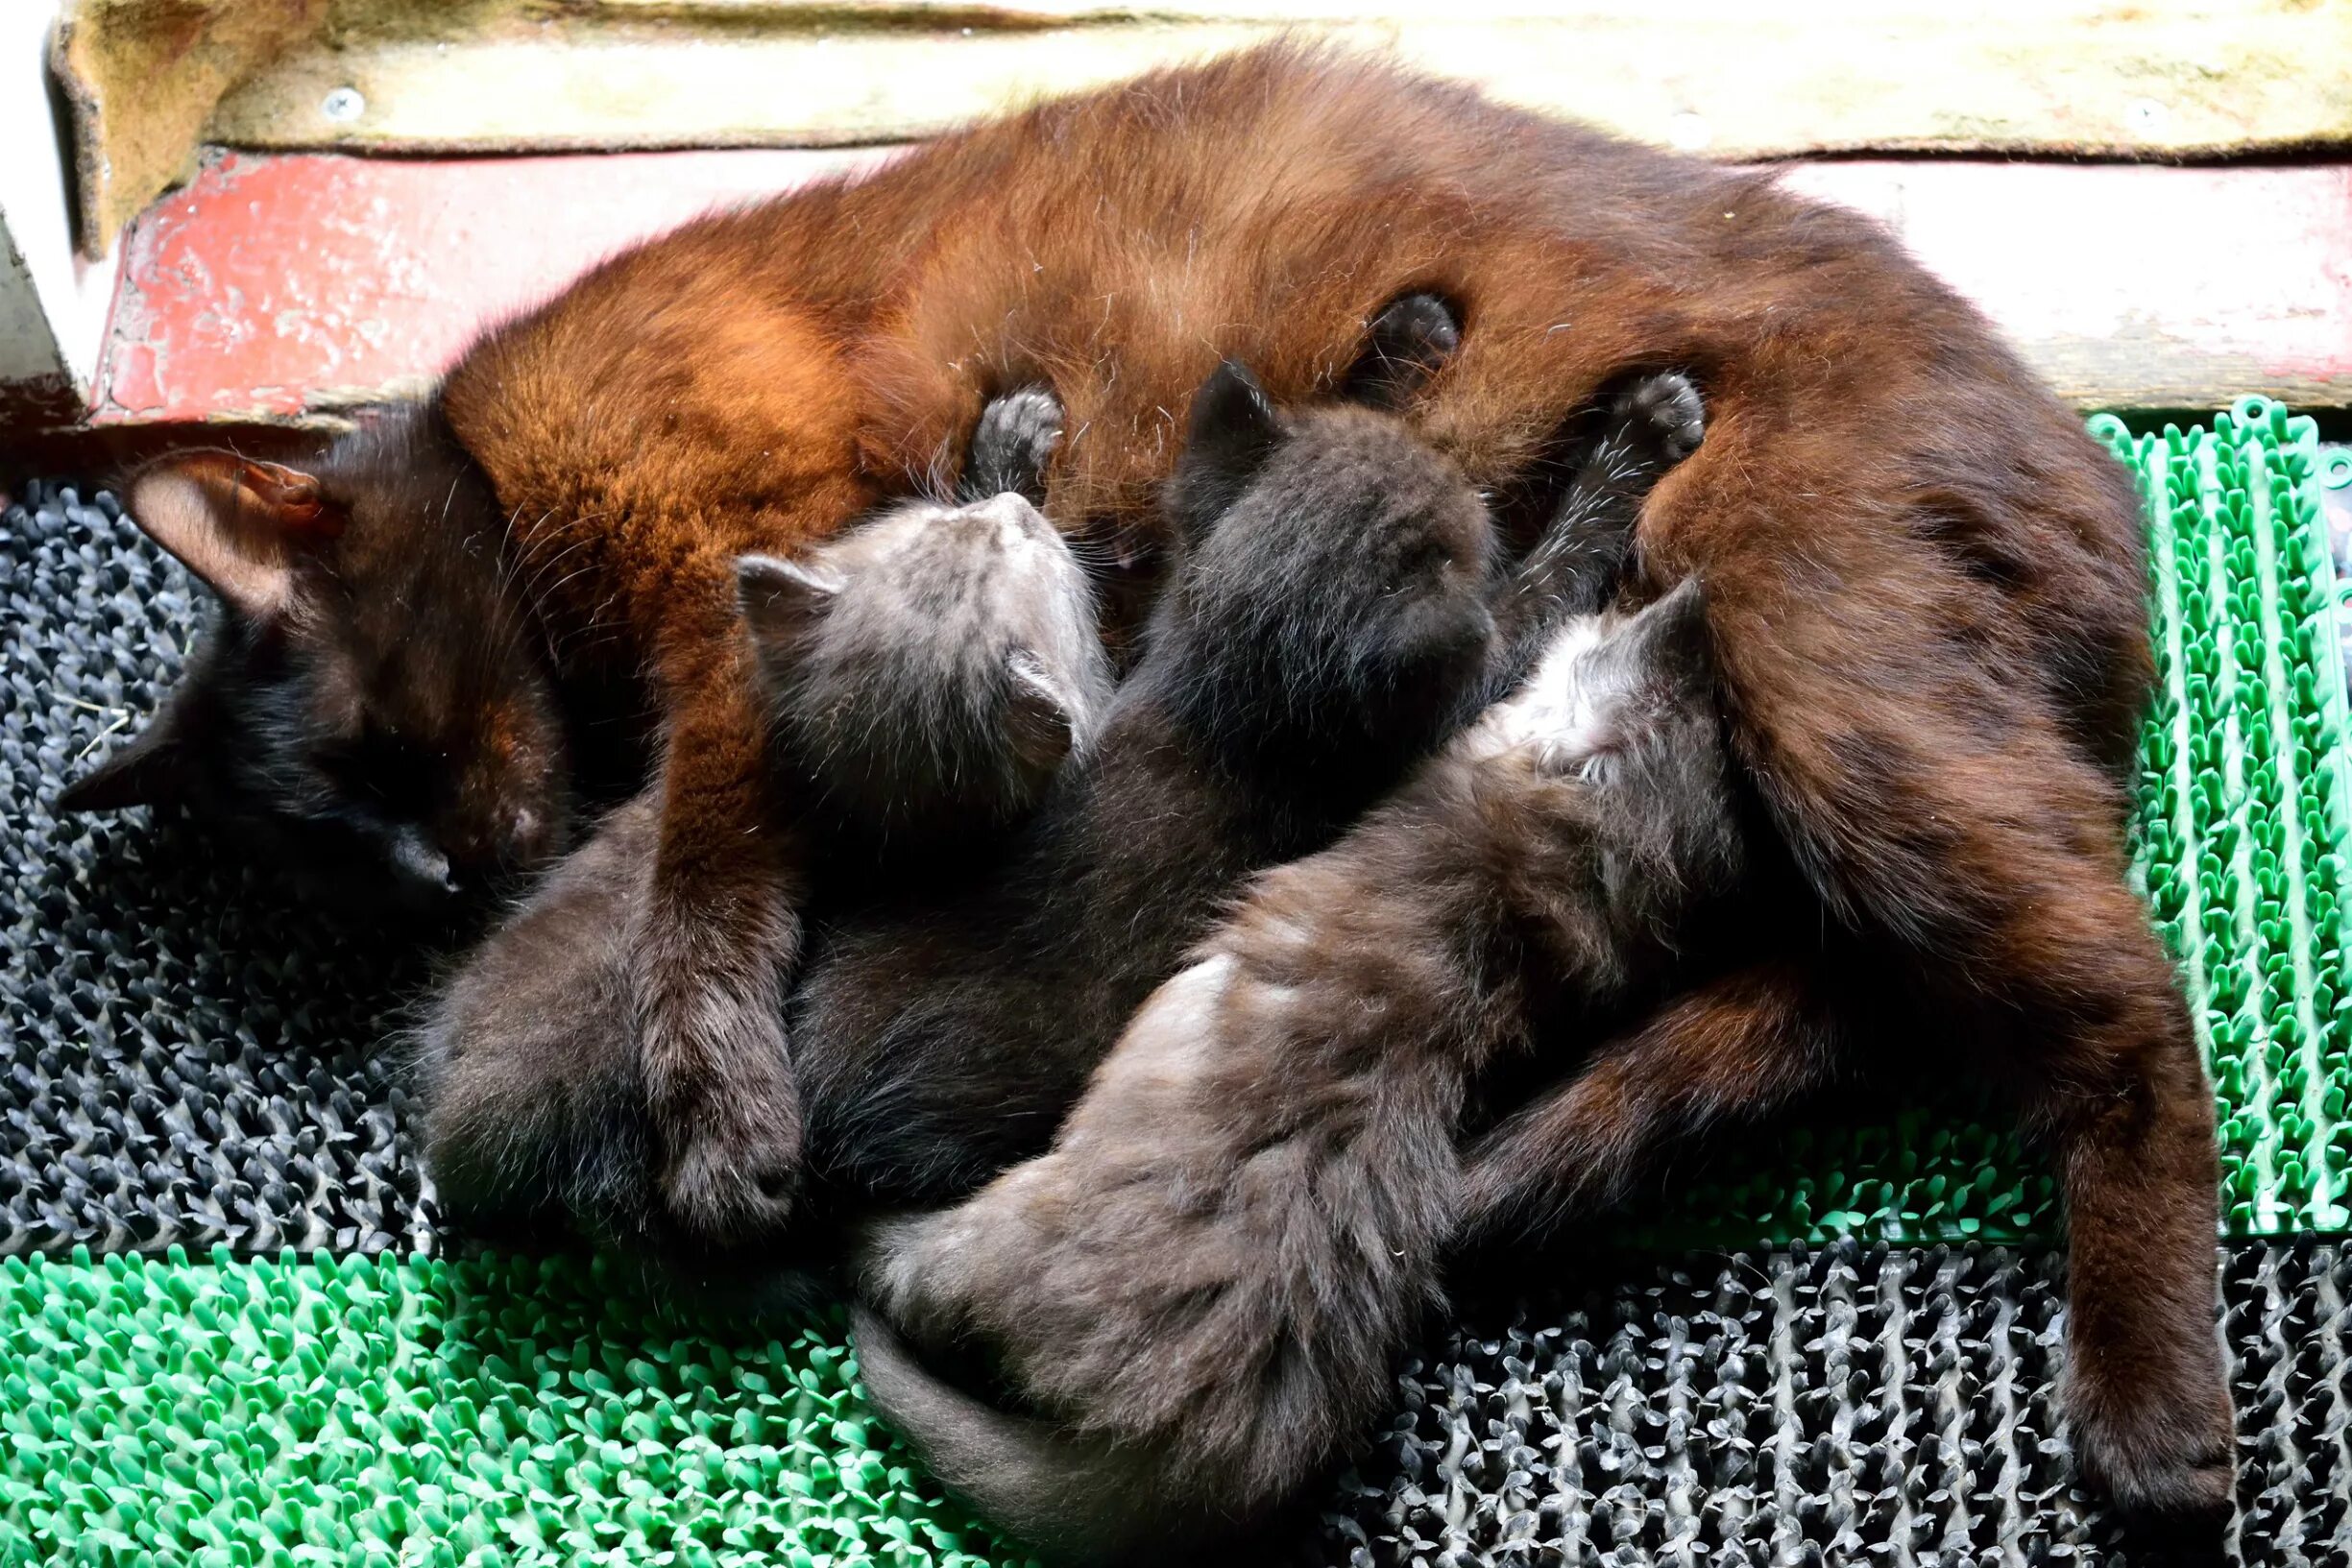
[[[931,865],[950,835],[983,842],[1101,731],[1110,658],[1087,571],[1021,494],[1058,428],[1049,393],[1014,393],[983,414],[955,503],[906,501],[800,559],[739,562],[811,870],[870,882]],[[435,997],[416,1039],[426,1161],[454,1208],[567,1211],[609,1241],[699,1251],[644,1182],[661,1131],[628,1006],[659,820],[654,797],[619,809]],[[729,1063],[743,1093],[797,1110],[783,1060],[783,1081]]]

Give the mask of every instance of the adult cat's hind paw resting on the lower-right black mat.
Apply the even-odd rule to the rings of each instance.
[[[2209,1387],[2166,1389],[2166,1382]],[[2159,1373],[2124,1396],[2105,1399],[2077,1382],[2067,1392],[2067,1425],[2084,1479],[2124,1514],[2187,1530],[2227,1523],[2237,1465],[2230,1396],[2218,1368],[2192,1380]]]

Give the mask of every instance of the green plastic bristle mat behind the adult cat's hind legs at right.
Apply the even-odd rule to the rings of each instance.
[[[2140,480],[2159,686],[2133,877],[2180,964],[2223,1133],[2223,1232],[2352,1225],[2352,994],[2343,943],[2345,677],[2321,487],[2352,484],[2310,418],[2241,397],[2209,428],[2091,433]],[[1858,1124],[1799,1112],[1708,1154],[1628,1215],[1644,1246],[1835,1237],[2030,1239],[2058,1190],[1987,1098]]]

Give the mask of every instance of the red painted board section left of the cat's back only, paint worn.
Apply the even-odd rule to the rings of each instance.
[[[94,423],[289,416],[433,376],[633,240],[877,158],[223,155],[125,244]]]

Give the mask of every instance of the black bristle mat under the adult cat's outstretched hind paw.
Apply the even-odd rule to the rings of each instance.
[[[2077,1483],[2058,1253],[1844,1241],[1538,1267],[1588,1284],[1463,1305],[1428,1335],[1315,1561],[2213,1561],[2180,1533],[2122,1533]],[[2220,1281],[2225,1561],[2352,1563],[2352,1248],[2237,1241]]]

